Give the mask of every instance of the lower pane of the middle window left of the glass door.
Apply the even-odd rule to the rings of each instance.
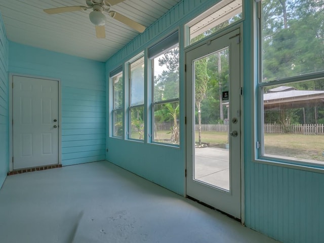
[[[130,138],[144,139],[144,106],[130,108],[131,134]]]

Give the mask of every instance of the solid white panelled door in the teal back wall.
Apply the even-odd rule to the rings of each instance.
[[[59,163],[58,81],[13,76],[13,169]]]

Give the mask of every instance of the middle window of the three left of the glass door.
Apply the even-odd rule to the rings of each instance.
[[[144,57],[129,64],[129,138],[144,140]]]

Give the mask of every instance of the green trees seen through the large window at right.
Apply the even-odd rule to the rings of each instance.
[[[263,81],[324,70],[323,0],[263,0],[262,35]],[[323,91],[324,78],[285,86]],[[264,92],[276,87],[265,87]],[[264,112],[264,123],[281,124],[285,132],[289,132],[291,124],[315,124],[323,120],[322,103]]]

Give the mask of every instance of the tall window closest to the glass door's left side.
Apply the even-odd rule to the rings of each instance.
[[[152,141],[179,145],[178,31],[148,50],[152,63]]]

